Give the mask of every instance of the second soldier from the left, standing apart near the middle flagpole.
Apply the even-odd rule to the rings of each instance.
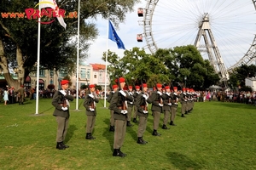
[[[96,121],[96,103],[99,102],[99,99],[97,99],[95,93],[95,84],[90,84],[88,88],[90,88],[90,93],[84,98],[84,107],[87,116],[85,139],[95,139],[91,133]]]

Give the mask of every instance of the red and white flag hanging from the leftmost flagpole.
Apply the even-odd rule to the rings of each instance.
[[[55,0],[40,0],[40,9],[41,8],[53,8],[55,11],[55,14],[57,16],[57,20],[66,29],[67,24],[64,22],[64,19],[62,16],[59,16],[59,7]]]

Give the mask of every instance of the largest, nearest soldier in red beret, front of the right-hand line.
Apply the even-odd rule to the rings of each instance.
[[[119,82],[119,91],[113,94],[111,99],[109,109],[113,110],[114,117],[114,139],[113,139],[113,156],[126,156],[120,148],[124,144],[125,133],[126,133],[126,123],[127,123],[127,100],[133,101],[133,98],[125,92],[123,88],[125,87],[125,78],[120,77],[115,80]]]

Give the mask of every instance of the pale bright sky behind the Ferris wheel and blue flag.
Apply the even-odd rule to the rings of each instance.
[[[137,34],[143,33],[139,26],[137,8],[145,8],[147,1],[135,5],[134,12],[126,15],[124,23],[116,29],[126,49],[146,47],[146,41],[137,42]],[[224,65],[235,65],[250,48],[255,35],[255,9],[251,0],[161,0],[154,10],[152,33],[158,48],[173,48],[194,44],[199,20],[209,13],[212,35],[222,56]],[[254,19],[255,18],[255,19]],[[87,63],[105,64],[102,54],[108,49],[123,56],[124,50],[118,49],[115,42],[107,39],[108,21],[98,19],[96,25],[99,37],[92,42]],[[202,38],[201,38],[202,39]],[[145,48],[150,54],[149,50]],[[202,54],[207,59],[206,54]]]

